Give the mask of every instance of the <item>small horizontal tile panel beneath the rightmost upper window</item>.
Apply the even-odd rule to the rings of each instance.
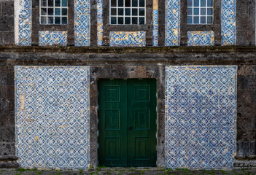
[[[214,46],[213,31],[187,31],[188,46]]]

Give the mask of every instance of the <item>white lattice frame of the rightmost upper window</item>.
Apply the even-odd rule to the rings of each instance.
[[[192,17],[192,23],[187,23],[187,25],[212,25],[214,23],[214,0],[212,0],[212,7],[208,7],[207,6],[207,3],[208,3],[208,0],[206,0],[206,7],[201,7],[201,0],[199,0],[199,6],[198,7],[194,7],[194,1],[195,0],[192,0],[192,6],[188,6],[187,5],[187,10],[188,8],[191,8],[192,9],[192,15],[188,15],[187,14],[187,17]],[[199,15],[194,15],[194,8],[199,8]],[[201,15],[201,9],[203,8],[206,8],[206,15]],[[211,9],[212,8],[212,15],[207,15],[207,11],[208,9]],[[194,17],[199,17],[199,23],[194,23]],[[201,17],[206,17],[206,23],[201,23]],[[207,17],[212,17],[212,23],[207,23],[208,20],[207,20]]]

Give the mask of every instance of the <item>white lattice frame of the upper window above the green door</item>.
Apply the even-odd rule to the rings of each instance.
[[[125,0],[117,0],[116,7],[111,6],[111,1],[109,0],[109,24],[110,25],[145,25],[146,24],[146,3],[147,0],[144,0],[144,7],[139,7],[139,1],[138,0],[138,6],[137,7],[132,7],[132,0],[131,0],[131,7],[125,7]],[[118,1],[123,1],[123,7],[118,7]],[[116,9],[117,10],[117,15],[111,15],[111,9]],[[118,15],[118,9],[123,9],[123,15]],[[131,14],[130,15],[125,15],[125,9],[131,9]],[[132,15],[132,9],[137,9],[138,15]],[[139,15],[139,9],[144,9],[144,15]],[[111,18],[115,17],[117,19],[117,23],[112,24],[111,23]],[[123,24],[118,24],[118,18],[123,17]],[[131,23],[130,24],[125,24],[125,18],[131,18]],[[137,23],[133,24],[132,18],[137,18]],[[144,24],[139,23],[139,18],[144,18]]]

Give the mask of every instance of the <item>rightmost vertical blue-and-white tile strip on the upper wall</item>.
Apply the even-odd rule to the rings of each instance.
[[[236,45],[236,0],[222,0],[222,45]]]

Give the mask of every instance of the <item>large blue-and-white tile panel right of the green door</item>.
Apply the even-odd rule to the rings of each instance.
[[[233,167],[236,66],[166,66],[166,167]]]

